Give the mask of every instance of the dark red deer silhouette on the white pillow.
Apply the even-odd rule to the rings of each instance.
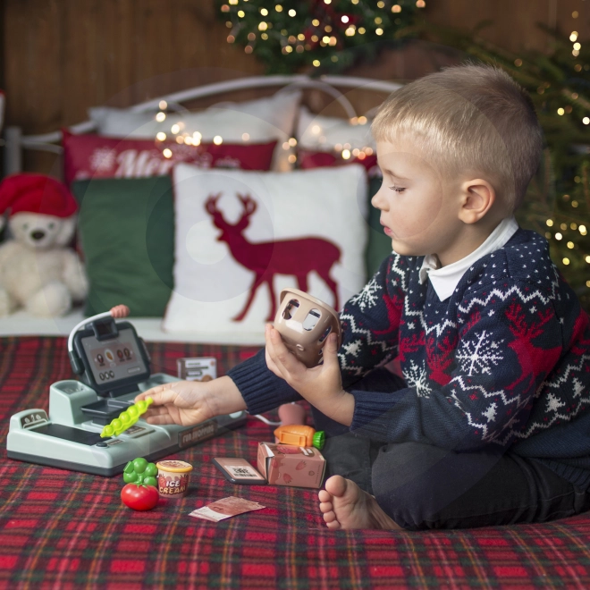
[[[240,265],[255,273],[254,282],[250,286],[249,298],[240,313],[233,317],[240,322],[248,313],[258,287],[266,282],[270,291],[271,312],[266,321],[274,320],[276,298],[274,296],[273,279],[275,274],[291,274],[297,279],[299,289],[308,291],[308,274],[316,271],[326,282],[334,294],[333,307],[338,309],[338,293],[336,282],[330,277],[334,263],[340,260],[340,249],[331,241],[321,238],[302,238],[301,240],[264,241],[253,244],[246,240],[244,230],[249,225],[249,218],[257,208],[257,203],[249,195],[240,195],[243,213],[240,221],[232,225],[223,219],[222,212],[217,208],[217,200],[221,193],[206,199],[205,207],[212,215],[215,227],[222,232],[217,240],[224,241],[230,247],[232,256]]]

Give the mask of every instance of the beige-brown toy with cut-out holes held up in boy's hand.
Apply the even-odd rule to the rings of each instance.
[[[323,362],[322,352],[328,334],[342,342],[338,312],[324,301],[299,289],[281,292],[281,305],[274,318],[274,328],[285,346],[308,368]]]

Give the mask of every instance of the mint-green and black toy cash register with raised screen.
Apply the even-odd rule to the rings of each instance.
[[[154,461],[245,424],[246,412],[218,416],[194,426],[152,425],[139,419],[124,432],[101,437],[114,418],[133,405],[139,392],[176,377],[150,375],[150,358],[133,325],[115,318],[129,309],[117,306],[75,326],[68,339],[73,372],[49,388],[49,416],[25,409],[10,419],[8,457],[98,476],[122,473],[128,461]]]

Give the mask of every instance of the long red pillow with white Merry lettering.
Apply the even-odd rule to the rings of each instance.
[[[66,184],[91,178],[145,178],[169,173],[185,162],[199,168],[269,170],[276,141],[258,144],[117,139],[63,131],[63,178]],[[166,151],[169,150],[169,151]]]

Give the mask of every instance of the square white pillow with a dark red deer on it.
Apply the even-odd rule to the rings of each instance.
[[[173,184],[174,291],[165,332],[262,344],[282,289],[340,309],[365,284],[360,164],[292,173],[177,164]]]

